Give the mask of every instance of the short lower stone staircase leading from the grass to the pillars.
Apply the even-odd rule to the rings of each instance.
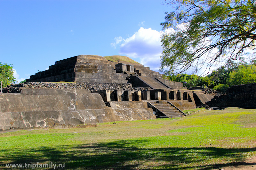
[[[173,107],[168,101],[148,101],[148,103],[168,118],[180,117],[183,114],[183,112]]]

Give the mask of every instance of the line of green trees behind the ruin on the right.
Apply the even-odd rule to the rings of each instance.
[[[250,64],[233,63],[213,70],[210,75],[200,77],[195,74],[178,74],[166,76],[171,81],[182,82],[185,87],[207,86],[214,90],[225,92],[229,86],[256,83],[256,60]]]

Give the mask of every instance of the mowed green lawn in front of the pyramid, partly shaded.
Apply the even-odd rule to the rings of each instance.
[[[59,169],[206,170],[256,155],[256,109],[115,123],[2,133],[0,169],[8,163],[52,162],[65,163]]]

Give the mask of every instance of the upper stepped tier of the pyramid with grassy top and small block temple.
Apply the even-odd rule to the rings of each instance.
[[[30,76],[27,82],[67,81],[76,83],[131,83],[133,87],[178,88],[183,83],[163,79],[163,75],[139,63],[111,62],[98,55],[77,55],[55,62],[49,70]]]

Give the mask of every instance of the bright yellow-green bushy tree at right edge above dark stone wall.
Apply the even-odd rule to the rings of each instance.
[[[229,73],[229,85],[256,83],[256,65],[239,65],[236,71]]]

